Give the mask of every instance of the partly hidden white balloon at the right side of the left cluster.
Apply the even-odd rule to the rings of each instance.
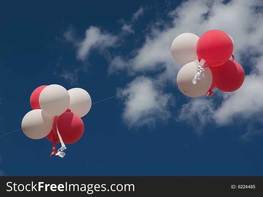
[[[85,116],[91,109],[91,97],[87,91],[81,88],[72,88],[68,90],[70,104],[68,109],[79,117]]]

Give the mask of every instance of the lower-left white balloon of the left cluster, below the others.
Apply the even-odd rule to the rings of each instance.
[[[28,138],[41,139],[52,129],[53,119],[42,109],[33,109],[22,120],[22,130]]]

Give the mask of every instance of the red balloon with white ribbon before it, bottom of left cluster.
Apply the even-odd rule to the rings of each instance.
[[[78,141],[84,132],[84,124],[81,118],[72,112],[64,112],[59,117],[56,116],[53,122],[53,131],[56,131],[56,124],[64,143]],[[59,139],[57,132],[54,132],[54,135]]]

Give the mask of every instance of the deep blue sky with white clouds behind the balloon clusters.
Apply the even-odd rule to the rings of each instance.
[[[83,88],[93,102],[65,158],[47,139],[0,138],[1,175],[263,175],[262,1],[1,1],[0,135],[21,128],[40,85]],[[189,98],[170,53],[181,33],[220,29],[246,79]],[[59,146],[59,145],[58,145]]]

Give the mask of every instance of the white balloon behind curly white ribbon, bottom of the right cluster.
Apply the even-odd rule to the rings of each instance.
[[[204,68],[204,79],[198,80],[196,84],[192,83],[197,74],[195,62],[184,65],[177,75],[177,85],[180,91],[189,97],[200,97],[205,94],[212,84],[212,73],[210,68]]]

